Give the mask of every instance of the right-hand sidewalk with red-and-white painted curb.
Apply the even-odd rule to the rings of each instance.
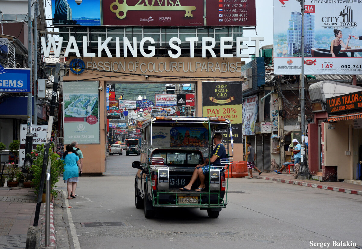
[[[310,188],[319,188],[319,189],[332,190],[342,193],[362,195],[362,185],[336,182],[336,181],[321,182],[316,180],[299,180],[299,179],[294,179],[293,173],[287,174],[283,172],[282,174],[277,174],[275,172],[270,172],[270,173],[263,172],[261,175],[258,176],[258,173],[256,171],[253,171],[253,177],[257,179],[264,179],[264,180],[278,181],[281,183],[306,186]]]

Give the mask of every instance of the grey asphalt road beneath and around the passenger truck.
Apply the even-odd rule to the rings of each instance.
[[[362,245],[361,196],[261,179],[230,179],[228,205],[219,218],[208,218],[206,210],[162,209],[155,219],[146,219],[134,205],[136,169],[131,163],[138,159],[108,156],[104,176],[80,178],[77,198],[65,200],[72,209],[55,211],[57,248],[321,248],[316,243],[355,248],[333,246],[333,241]],[[58,186],[66,191],[65,184]]]

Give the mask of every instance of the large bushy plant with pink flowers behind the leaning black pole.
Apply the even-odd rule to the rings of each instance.
[[[54,143],[51,144],[49,148],[49,156],[48,159],[51,159],[51,165],[50,165],[50,193],[54,196],[58,196],[58,192],[54,190],[56,188],[56,183],[59,181],[59,175],[63,173],[63,161],[59,160],[60,156],[53,151],[54,149]],[[41,173],[42,173],[42,167],[43,167],[43,158],[44,158],[44,151],[45,151],[45,145],[37,145],[37,149],[31,151],[31,154],[28,154],[28,156],[33,159],[33,165],[30,166],[30,170],[33,171],[33,186],[35,188],[34,193],[38,194],[39,192],[39,185],[40,185],[40,179],[41,179]],[[46,162],[46,165],[48,162]],[[45,184],[44,189],[42,191],[45,193]]]

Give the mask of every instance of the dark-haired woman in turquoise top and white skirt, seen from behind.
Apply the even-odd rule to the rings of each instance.
[[[63,180],[67,184],[68,198],[76,198],[72,193],[75,193],[78,182],[78,168],[82,171],[82,167],[79,162],[79,157],[72,152],[71,145],[66,146],[66,151],[63,154],[62,160],[64,161],[64,173]]]

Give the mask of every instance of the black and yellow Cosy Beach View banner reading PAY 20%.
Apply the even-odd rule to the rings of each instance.
[[[243,143],[241,83],[241,81],[202,82],[202,116],[224,117],[230,120],[234,143]]]

